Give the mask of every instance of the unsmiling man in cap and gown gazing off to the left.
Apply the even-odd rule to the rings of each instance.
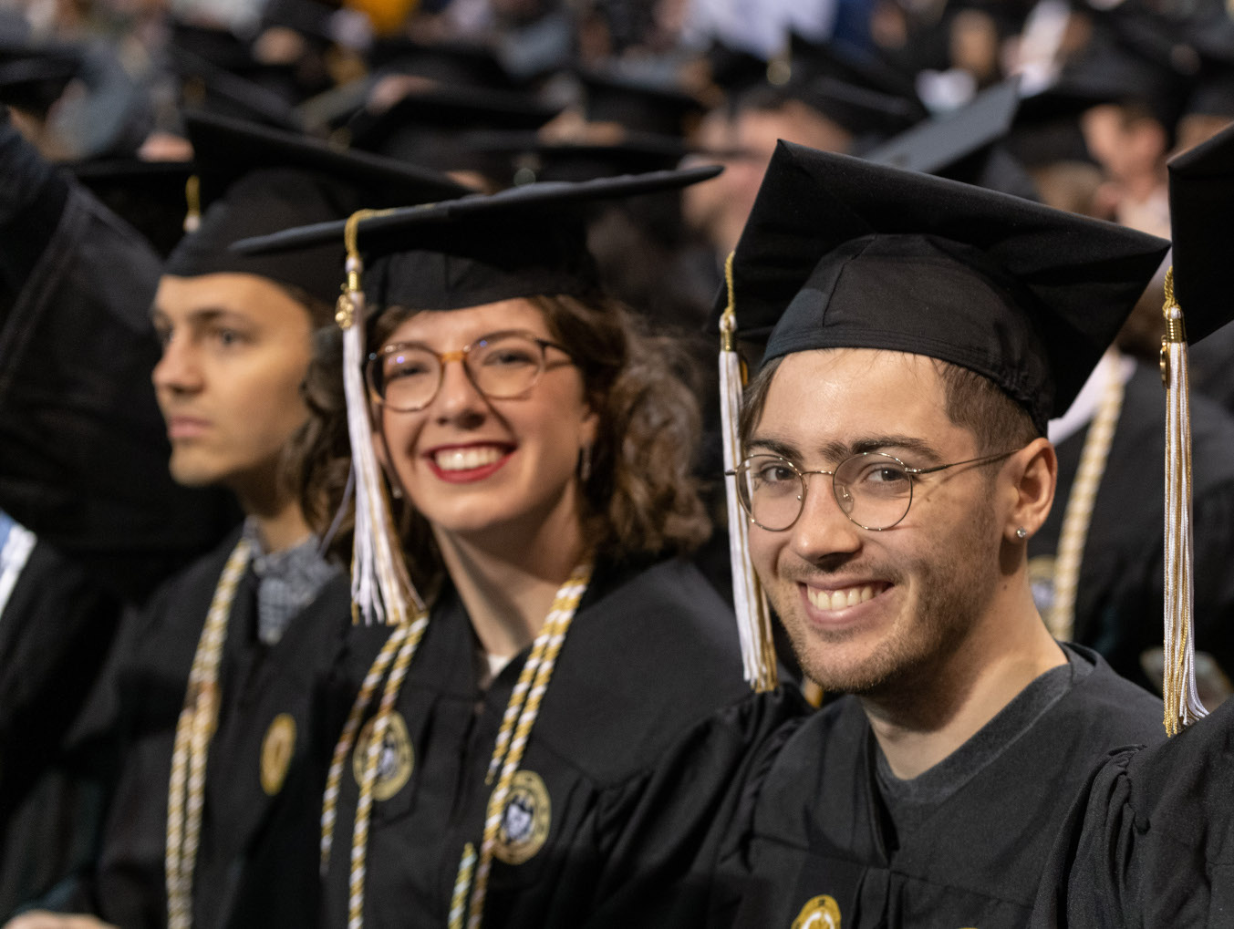
[[[308,925],[316,915],[322,785],[311,762],[337,735],[325,732],[322,706],[350,597],[301,510],[291,449],[308,419],[313,332],[333,324],[342,268],[334,249],[248,258],[230,246],[465,190],[230,120],[190,117],[189,127],[210,209],[163,269],[152,380],[172,476],[228,489],[246,518],[126,622],[79,727],[114,750],[117,775],[93,867],[46,903],[93,915],[36,912],[12,929]],[[371,632],[378,648],[385,630]]]

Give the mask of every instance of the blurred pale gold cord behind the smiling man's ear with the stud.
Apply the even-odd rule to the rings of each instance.
[[[1112,348],[1106,354],[1106,382],[1102,385],[1097,412],[1085,437],[1080,466],[1076,469],[1075,482],[1067,496],[1067,508],[1062,516],[1062,529],[1059,532],[1059,550],[1054,559],[1054,603],[1050,607],[1048,626],[1050,634],[1060,642],[1071,642],[1075,632],[1076,591],[1080,586],[1083,547],[1088,540],[1097,491],[1106,474],[1109,447],[1114,440],[1114,429],[1118,427],[1118,417],[1123,411],[1123,395],[1127,390],[1119,370],[1122,360],[1118,349]]]

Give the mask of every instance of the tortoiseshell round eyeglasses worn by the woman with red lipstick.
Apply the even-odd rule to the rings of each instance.
[[[475,389],[494,400],[529,391],[549,366],[547,352],[570,353],[529,332],[494,332],[457,352],[434,352],[420,342],[395,342],[369,355],[369,390],[384,406],[404,413],[423,410],[442,389],[447,361],[462,361]],[[573,364],[573,361],[570,361]]]

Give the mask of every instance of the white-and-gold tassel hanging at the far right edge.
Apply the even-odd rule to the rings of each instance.
[[[1176,735],[1208,716],[1196,690],[1195,559],[1191,529],[1191,401],[1182,310],[1174,300],[1174,269],[1165,279],[1165,730]]]

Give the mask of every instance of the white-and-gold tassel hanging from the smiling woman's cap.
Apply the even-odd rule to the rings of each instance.
[[[410,618],[408,603],[416,613],[423,612],[424,603],[407,575],[390,516],[385,479],[373,448],[373,419],[363,375],[365,306],[360,275],[364,264],[355,246],[357,223],[366,215],[360,211],[347,225],[347,289],[338,299],[334,317],[343,329],[343,394],[355,493],[352,605],[365,624],[397,624]]]

